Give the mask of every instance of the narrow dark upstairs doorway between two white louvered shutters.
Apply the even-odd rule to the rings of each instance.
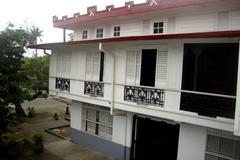
[[[155,71],[156,71],[156,49],[143,49],[142,50],[142,64],[141,64],[141,86],[155,85]]]

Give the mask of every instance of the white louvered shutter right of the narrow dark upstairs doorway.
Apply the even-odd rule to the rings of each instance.
[[[158,50],[156,64],[156,86],[167,81],[168,51]]]

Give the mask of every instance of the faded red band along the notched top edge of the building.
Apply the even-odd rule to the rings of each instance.
[[[106,18],[114,18],[118,16],[127,16],[131,14],[144,13],[144,12],[153,12],[159,11],[163,9],[184,7],[190,5],[199,5],[206,4],[209,2],[216,2],[221,0],[166,0],[162,2],[157,2],[156,5],[151,5],[150,2],[142,3],[142,4],[131,4],[130,8],[128,6],[120,7],[120,8],[111,8],[111,10],[104,11],[94,11],[94,15],[90,16],[89,13],[85,15],[75,15],[70,18],[63,17],[59,20],[56,16],[53,17],[53,26],[59,28],[65,28],[77,23],[95,21]],[[94,6],[95,7],[95,6]]]

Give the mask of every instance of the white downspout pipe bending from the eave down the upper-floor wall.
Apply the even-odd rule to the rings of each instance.
[[[103,49],[103,45],[100,42],[99,43],[99,51],[102,51],[104,53],[110,54],[113,57],[113,72],[112,72],[112,98],[111,98],[111,108],[110,108],[110,114],[113,115],[113,110],[114,110],[114,95],[115,95],[115,88],[114,88],[114,83],[115,83],[115,68],[116,68],[116,56],[113,52],[107,50],[107,49]]]

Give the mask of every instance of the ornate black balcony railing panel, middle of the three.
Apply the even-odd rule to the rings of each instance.
[[[95,96],[95,97],[103,97],[104,83],[98,82],[84,82],[84,94]]]

